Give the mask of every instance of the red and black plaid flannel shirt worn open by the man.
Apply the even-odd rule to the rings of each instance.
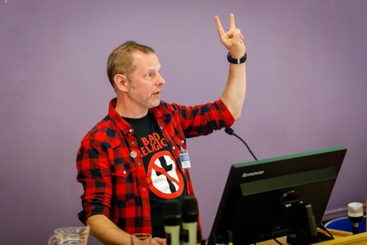
[[[116,112],[116,101],[110,101],[108,115],[83,138],[77,153],[77,181],[84,188],[83,211],[78,216],[85,223],[90,216],[102,214],[130,234],[151,234],[144,164],[133,137],[134,128]],[[208,135],[234,122],[221,100],[192,107],[161,101],[148,113],[157,120],[178,163],[186,138]],[[138,154],[135,158],[133,151]],[[193,196],[189,173],[183,173],[188,195]]]

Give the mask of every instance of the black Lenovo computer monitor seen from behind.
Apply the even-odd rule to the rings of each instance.
[[[234,245],[291,234],[317,241],[347,149],[336,147],[231,166],[211,234],[232,233]]]

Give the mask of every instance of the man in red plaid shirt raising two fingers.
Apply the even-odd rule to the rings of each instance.
[[[83,211],[78,215],[104,244],[129,245],[130,234],[153,234],[165,245],[166,199],[193,196],[186,138],[230,126],[241,114],[246,90],[245,46],[234,16],[227,32],[215,16],[228,49],[229,76],[221,98],[196,106],[160,100],[165,80],[153,49],[129,41],[112,51],[107,74],[117,98],[108,115],[83,138],[77,154]],[[200,228],[199,228],[200,230]]]

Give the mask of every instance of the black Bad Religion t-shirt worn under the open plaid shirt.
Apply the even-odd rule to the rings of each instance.
[[[146,172],[149,189],[153,237],[164,238],[163,205],[166,199],[182,202],[187,196],[182,169],[167,145],[157,122],[149,114],[142,118],[125,118],[134,128]]]

